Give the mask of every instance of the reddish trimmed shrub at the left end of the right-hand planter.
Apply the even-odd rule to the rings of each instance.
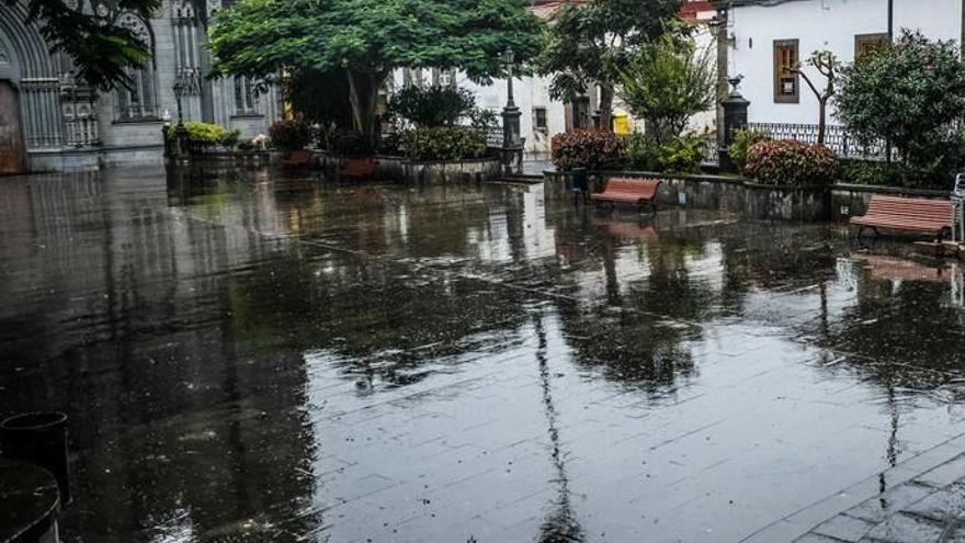
[[[612,132],[593,128],[565,132],[553,136],[553,165],[557,170],[618,169],[624,162],[626,143]]]

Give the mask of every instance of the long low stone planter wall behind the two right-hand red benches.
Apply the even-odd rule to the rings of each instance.
[[[557,172],[545,172],[547,179],[565,190],[566,182]],[[722,210],[742,213],[754,218],[785,220],[847,222],[863,215],[873,194],[915,197],[943,197],[947,192],[836,183],[832,185],[770,185],[739,177],[704,174],[667,174],[647,171],[594,172],[594,190],[601,191],[611,177],[656,178],[663,180],[657,192],[658,206],[683,205],[699,210]]]

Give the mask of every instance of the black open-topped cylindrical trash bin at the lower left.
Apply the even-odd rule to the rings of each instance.
[[[36,464],[57,479],[60,504],[70,504],[70,467],[67,460],[67,415],[27,412],[0,422],[0,454]]]

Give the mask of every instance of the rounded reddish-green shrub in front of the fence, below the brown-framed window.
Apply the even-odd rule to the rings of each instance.
[[[747,152],[745,173],[767,184],[825,184],[838,177],[838,157],[822,145],[761,142]]]

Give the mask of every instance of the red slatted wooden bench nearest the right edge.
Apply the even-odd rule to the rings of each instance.
[[[878,235],[878,228],[916,234],[934,235],[941,239],[952,230],[952,202],[920,197],[882,196],[875,194],[862,217],[851,217],[859,226],[858,236],[870,228]]]

